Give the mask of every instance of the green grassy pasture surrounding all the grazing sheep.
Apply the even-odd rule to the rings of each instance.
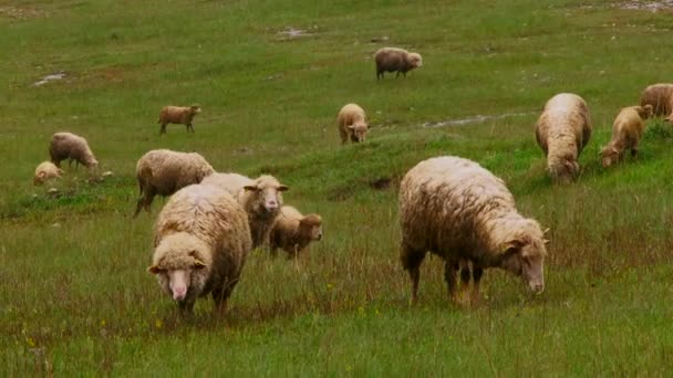
[[[672,15],[599,0],[3,2],[0,375],[670,374],[671,127],[648,122],[638,161],[603,170],[597,154],[620,107],[673,80]],[[383,45],[424,66],[376,82]],[[584,97],[594,125],[568,187],[551,186],[532,132],[559,92]],[[341,147],[349,102],[374,127]],[[161,107],[191,103],[196,133],[159,137]],[[505,116],[422,126],[478,115]],[[115,175],[89,182],[73,167],[60,196],[32,187],[56,130],[85,136]],[[255,251],[226,318],[200,301],[180,319],[145,272],[164,202],[131,219],[152,148],[276,175],[325,239],[297,264]],[[408,306],[396,188],[438,155],[503,177],[550,228],[542,295],[493,270],[482,304],[457,307],[429,258]]]

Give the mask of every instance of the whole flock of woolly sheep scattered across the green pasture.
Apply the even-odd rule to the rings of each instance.
[[[376,52],[375,64],[379,80],[384,72],[406,75],[422,65],[422,57],[384,48]],[[164,107],[161,133],[170,123],[184,124],[194,133],[191,122],[199,112],[198,105]],[[673,122],[673,84],[648,86],[640,106],[621,109],[612,139],[601,150],[603,166],[622,160],[627,149],[635,156],[644,119],[661,115]],[[336,124],[342,144],[365,140],[362,107],[343,106]],[[536,139],[555,182],[578,178],[578,158],[590,137],[589,108],[580,96],[562,93],[547,102],[536,124]],[[38,166],[35,185],[60,177],[60,162],[65,159],[90,169],[97,166],[86,140],[71,133],[54,134],[49,150],[51,161]],[[137,161],[136,178],[141,198],[134,217],[143,209],[149,211],[155,196],[172,196],[155,222],[155,250],[147,271],[185,312],[208,294],[217,312],[226,311],[252,249],[268,244],[273,254],[280,248],[297,258],[310,242],[322,239],[321,217],[283,206],[282,192],[289,188],[272,176],[251,179],[216,172],[199,154],[157,149]],[[487,267],[522,276],[536,293],[545,288],[545,231],[537,221],[519,214],[501,179],[474,161],[436,157],[408,170],[400,187],[400,220],[401,261],[411,277],[412,302],[417,300],[420,266],[427,252],[445,261],[454,301],[464,300],[470,281],[470,302],[478,301]],[[460,293],[456,291],[458,275]]]

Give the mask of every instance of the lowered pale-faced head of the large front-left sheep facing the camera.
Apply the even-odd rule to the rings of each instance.
[[[187,297],[189,288],[196,292],[206,284],[206,276],[200,272],[206,270],[206,263],[199,255],[207,252],[208,246],[199,239],[176,233],[168,235],[157,245],[155,254],[162,258],[147,272],[157,276],[159,286],[174,301],[182,302]]]

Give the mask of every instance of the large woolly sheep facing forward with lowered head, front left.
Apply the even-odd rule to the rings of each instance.
[[[227,191],[203,185],[178,190],[155,224],[154,254],[147,271],[190,314],[196,298],[211,294],[215,312],[240,279],[252,248],[244,209]]]

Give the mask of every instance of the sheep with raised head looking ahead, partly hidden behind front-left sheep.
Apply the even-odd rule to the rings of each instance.
[[[282,207],[281,192],[289,189],[287,186],[273,176],[262,175],[252,180],[238,174],[215,174],[201,183],[220,187],[238,199],[248,214],[253,249],[268,241],[273,220]]]

